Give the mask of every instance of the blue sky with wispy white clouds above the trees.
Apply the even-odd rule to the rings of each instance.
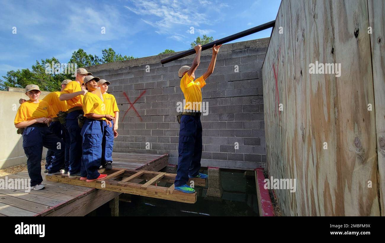
[[[45,58],[68,62],[79,48],[99,57],[109,47],[134,57],[188,50],[198,35],[220,39],[274,20],[279,5],[280,0],[0,0],[0,76]]]

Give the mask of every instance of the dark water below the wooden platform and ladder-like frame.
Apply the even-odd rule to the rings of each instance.
[[[196,186],[198,198],[194,204],[122,194],[119,216],[259,216],[254,176],[235,170],[221,171],[221,181],[223,195],[219,201],[207,199],[207,185]],[[168,187],[171,183],[158,185]],[[109,203],[87,216],[110,216]]]

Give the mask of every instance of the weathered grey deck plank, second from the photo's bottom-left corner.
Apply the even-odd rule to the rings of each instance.
[[[38,213],[41,216],[44,216],[55,210],[54,207],[42,205],[40,203],[34,203],[32,201],[24,200],[14,196],[7,196],[7,195],[0,195],[0,203],[10,205],[16,208],[20,208],[23,210],[27,210],[30,212]]]

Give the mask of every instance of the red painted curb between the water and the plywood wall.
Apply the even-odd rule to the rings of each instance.
[[[257,180],[257,190],[258,190],[258,200],[260,205],[260,212],[261,216],[274,216],[274,209],[273,204],[271,204],[269,191],[268,189],[264,188],[264,175],[263,175],[263,168],[256,168],[254,171],[256,171],[256,180]]]

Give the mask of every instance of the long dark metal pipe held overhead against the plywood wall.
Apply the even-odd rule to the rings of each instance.
[[[236,40],[236,39],[239,39],[241,37],[245,37],[246,35],[251,35],[251,34],[259,32],[261,30],[266,30],[268,28],[274,27],[274,25],[275,25],[275,20],[270,21],[268,23],[264,23],[262,25],[258,25],[256,27],[250,28],[248,30],[244,30],[244,31],[236,33],[234,35],[230,35],[228,37],[224,37],[222,39],[215,40],[215,41],[210,42],[210,43],[208,43],[206,45],[203,45],[202,46],[202,50],[204,51],[204,50],[207,50],[209,48],[212,48],[214,46],[214,44],[215,45],[221,45],[221,44],[224,44],[224,43],[227,43],[227,42],[231,42],[232,40]],[[191,49],[191,50],[188,50],[188,51],[185,51],[185,52],[181,52],[181,53],[173,55],[171,57],[167,57],[167,58],[162,59],[161,63],[164,64],[164,63],[172,62],[172,61],[175,61],[175,60],[177,60],[179,58],[187,57],[189,55],[192,55],[194,53],[195,53],[194,49]]]

